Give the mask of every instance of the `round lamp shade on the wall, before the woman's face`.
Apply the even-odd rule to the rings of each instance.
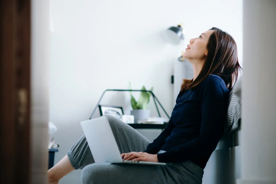
[[[178,45],[184,40],[183,28],[181,25],[169,27],[162,34],[163,39],[173,45]]]

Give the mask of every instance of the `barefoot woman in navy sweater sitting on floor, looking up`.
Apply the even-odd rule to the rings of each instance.
[[[193,79],[183,79],[168,125],[152,143],[107,116],[124,160],[165,166],[96,164],[83,136],[48,170],[49,183],[80,168],[83,183],[202,183],[203,169],[223,135],[229,91],[241,67],[234,39],[218,28],[191,39],[183,57],[193,66]]]

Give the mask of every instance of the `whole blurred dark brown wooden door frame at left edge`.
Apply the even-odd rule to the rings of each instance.
[[[30,183],[30,0],[0,1],[1,183]]]

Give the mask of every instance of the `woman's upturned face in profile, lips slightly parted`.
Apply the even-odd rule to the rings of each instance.
[[[207,43],[214,30],[208,30],[202,33],[199,37],[190,39],[190,44],[187,45],[183,57],[188,61],[205,60],[207,53]]]

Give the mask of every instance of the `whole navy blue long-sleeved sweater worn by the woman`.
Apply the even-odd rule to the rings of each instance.
[[[158,162],[191,160],[202,169],[223,135],[229,90],[221,77],[211,74],[193,90],[180,91],[164,131],[145,152]]]

